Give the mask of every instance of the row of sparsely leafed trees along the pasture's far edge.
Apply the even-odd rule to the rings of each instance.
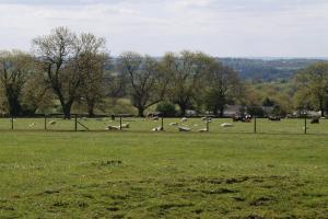
[[[294,81],[273,88],[242,81],[238,72],[203,53],[167,53],[161,59],[133,51],[113,60],[105,39],[57,27],[33,39],[32,53],[0,54],[0,110],[28,116],[56,106],[66,118],[80,107],[94,116],[127,99],[144,116],[149,108],[179,115],[188,110],[223,116],[226,104],[291,110],[328,107],[328,64],[301,70]],[[85,107],[82,107],[85,106]],[[251,107],[249,107],[251,108]]]

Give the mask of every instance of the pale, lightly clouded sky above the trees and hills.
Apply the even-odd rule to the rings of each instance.
[[[57,26],[106,38],[113,56],[328,57],[328,0],[0,0],[0,49]]]

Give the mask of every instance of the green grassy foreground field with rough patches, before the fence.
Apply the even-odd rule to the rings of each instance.
[[[130,123],[136,131],[0,131],[0,218],[328,218],[326,135]]]

